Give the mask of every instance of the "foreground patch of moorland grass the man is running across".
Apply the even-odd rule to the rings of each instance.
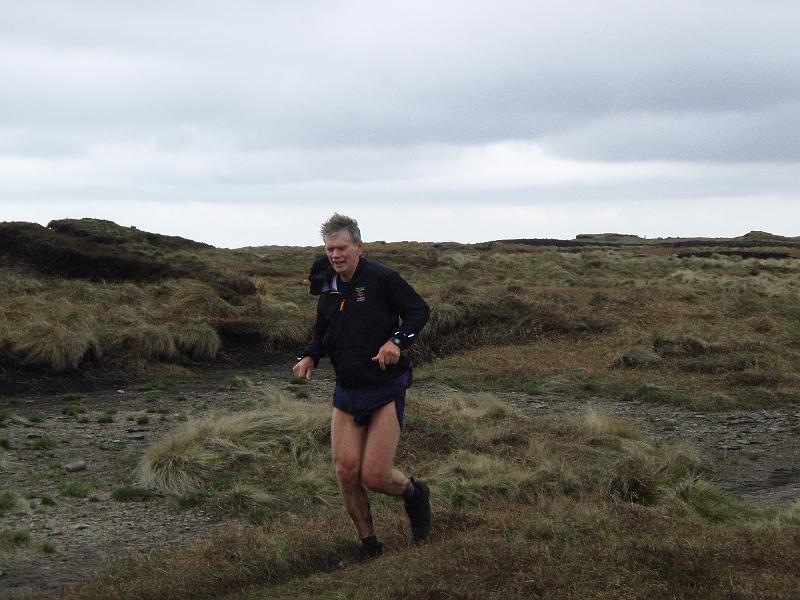
[[[332,471],[328,409],[282,400],[187,423],[141,467],[160,491],[194,490],[178,499],[208,506],[224,489],[241,510],[265,507],[260,525],[117,561],[61,597],[788,598],[800,585],[800,506],[743,507],[690,449],[597,410],[551,421],[491,394],[412,400],[398,462],[431,484],[430,542],[408,540],[401,503],[376,501],[386,555],[332,572],[354,545],[348,517],[338,501],[294,505],[298,477]]]

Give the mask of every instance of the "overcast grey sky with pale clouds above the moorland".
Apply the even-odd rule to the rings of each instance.
[[[9,1],[0,221],[800,235],[800,2]]]

